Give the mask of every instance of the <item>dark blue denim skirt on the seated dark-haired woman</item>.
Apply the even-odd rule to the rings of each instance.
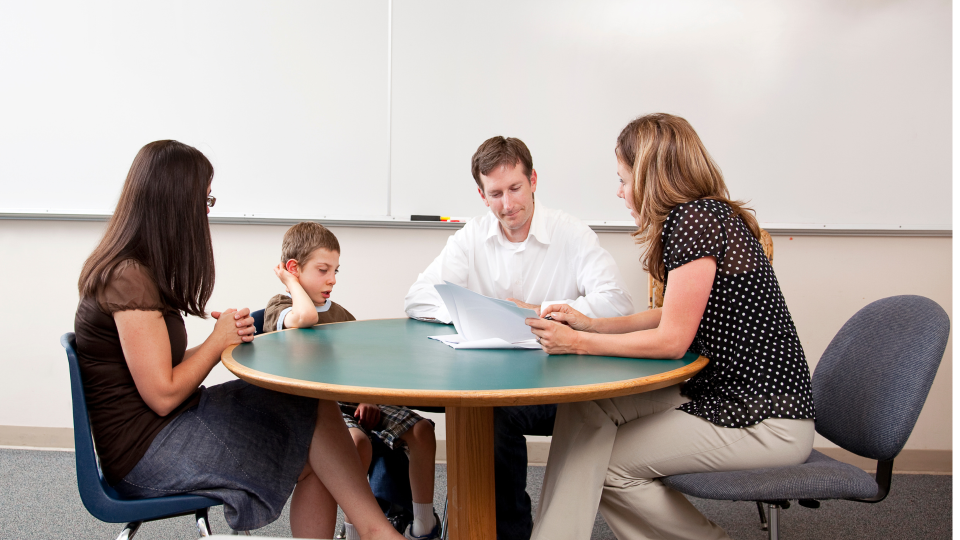
[[[202,388],[114,488],[135,499],[203,495],[224,503],[230,528],[261,528],[297,485],[316,421],[312,398],[243,380]]]

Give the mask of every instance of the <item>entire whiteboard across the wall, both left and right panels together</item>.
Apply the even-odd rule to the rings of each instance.
[[[511,135],[539,203],[624,222],[615,137],[666,111],[762,223],[950,229],[950,9],[7,2],[0,215],[108,212],[137,149],[176,138],[214,163],[212,218],[472,216],[470,156]]]

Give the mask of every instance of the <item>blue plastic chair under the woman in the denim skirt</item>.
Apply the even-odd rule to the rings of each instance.
[[[77,487],[86,510],[100,521],[126,523],[117,540],[128,540],[136,534],[143,522],[194,514],[201,536],[209,536],[210,523],[207,508],[222,504],[215,499],[199,495],[171,495],[154,499],[125,499],[109,486],[100,470],[100,463],[93,451],[93,435],[90,418],[86,412],[84,384],[77,361],[77,339],[67,332],[60,337],[60,345],[66,349],[70,364],[70,386],[73,391],[73,436],[77,454]]]

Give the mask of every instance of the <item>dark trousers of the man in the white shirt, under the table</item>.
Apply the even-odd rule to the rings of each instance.
[[[497,540],[529,540],[534,521],[527,494],[527,440],[552,435],[557,405],[498,406],[493,409],[493,479]]]

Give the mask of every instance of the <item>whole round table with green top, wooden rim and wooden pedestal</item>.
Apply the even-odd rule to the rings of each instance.
[[[689,379],[704,356],[679,360],[549,356],[537,350],[453,349],[427,338],[452,326],[378,319],[275,331],[228,347],[224,365],[280,392],[342,402],[446,407],[451,540],[496,538],[493,407],[581,402]]]

